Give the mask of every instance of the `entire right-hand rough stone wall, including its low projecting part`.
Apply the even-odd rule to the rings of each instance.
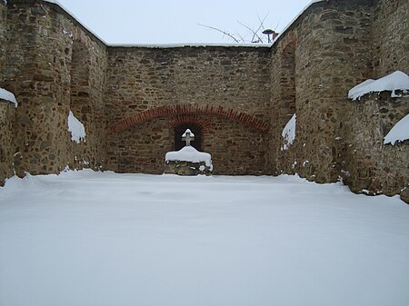
[[[347,94],[366,79],[408,72],[408,12],[406,1],[316,3],[274,44],[270,151],[276,173],[319,183],[341,177],[354,192],[370,194],[407,188],[407,142],[383,144],[408,114],[407,98],[383,93],[353,102]],[[294,91],[293,99],[283,88]],[[282,151],[281,131],[294,113],[295,141]]]

